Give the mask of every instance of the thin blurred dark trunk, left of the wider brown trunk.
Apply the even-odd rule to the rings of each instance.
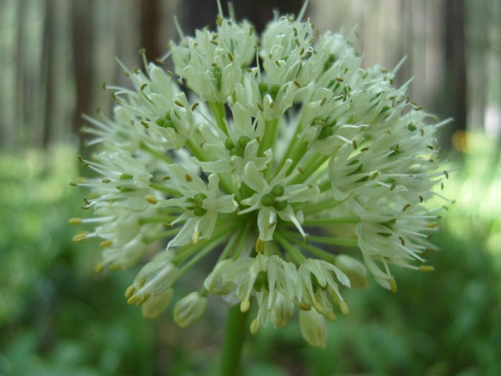
[[[41,74],[44,79],[41,92],[45,92],[45,110],[44,122],[42,124],[42,147],[46,147],[54,134],[53,122],[53,103],[54,103],[54,7],[53,0],[45,2],[45,25],[44,25],[44,49],[42,52]]]

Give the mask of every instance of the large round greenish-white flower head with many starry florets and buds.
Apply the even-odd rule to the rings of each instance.
[[[174,73],[124,68],[134,88],[107,86],[114,116],[86,117],[103,151],[80,158],[99,177],[72,183],[91,187],[83,208],[96,214],[70,220],[95,224],[74,240],[101,239],[98,271],[168,240],[126,292],[145,316],[214,251],[201,291],[174,307],[180,326],[210,292],[241,311],[255,300],[253,333],[298,308],[304,338],[324,347],[324,317],[348,314],[341,289],[365,288],[366,267],[393,292],[390,267],[433,270],[412,262],[433,249],[438,217],[423,203],[447,177],[436,172],[445,122],[409,102],[407,84],[393,87],[395,71],[362,69],[349,40],[301,18],[278,18],[260,37],[220,12],[215,31],[171,43]]]

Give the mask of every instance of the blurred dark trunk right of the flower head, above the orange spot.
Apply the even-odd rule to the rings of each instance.
[[[463,0],[445,0],[445,96],[447,112],[454,118],[446,138],[466,129],[466,65]]]

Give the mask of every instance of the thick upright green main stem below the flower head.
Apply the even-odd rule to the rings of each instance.
[[[244,313],[240,311],[239,304],[235,304],[228,309],[221,353],[221,376],[235,376],[238,374],[238,363],[247,332],[247,314],[248,311]]]

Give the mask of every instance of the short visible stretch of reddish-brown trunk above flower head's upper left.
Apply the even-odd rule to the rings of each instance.
[[[141,46],[146,49],[148,61],[154,61],[162,54],[162,46],[160,46],[161,16],[158,0],[141,1]]]

